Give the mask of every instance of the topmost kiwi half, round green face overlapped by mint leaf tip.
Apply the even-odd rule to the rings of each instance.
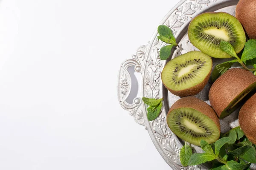
[[[215,58],[231,57],[221,50],[221,41],[229,42],[236,53],[239,53],[245,44],[245,33],[241,23],[236,17],[225,12],[198,15],[189,24],[188,35],[196,48]]]

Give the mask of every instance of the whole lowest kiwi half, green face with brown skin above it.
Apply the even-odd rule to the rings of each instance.
[[[206,102],[195,97],[183,97],[175,102],[166,120],[175,135],[197,146],[202,139],[213,143],[220,136],[218,116]]]

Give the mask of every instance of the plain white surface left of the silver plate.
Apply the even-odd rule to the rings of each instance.
[[[116,80],[177,2],[0,0],[0,169],[169,170]]]

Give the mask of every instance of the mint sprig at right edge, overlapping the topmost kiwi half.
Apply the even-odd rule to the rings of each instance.
[[[220,47],[223,51],[236,59],[216,65],[212,72],[212,82],[230,69],[234,62],[239,62],[244,69],[254,71],[256,75],[256,40],[245,42],[241,59],[237,56],[235,49],[229,42],[221,41]],[[254,68],[248,68],[247,65],[253,65]]]

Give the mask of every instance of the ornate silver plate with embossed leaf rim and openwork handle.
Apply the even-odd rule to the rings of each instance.
[[[181,0],[169,11],[160,23],[160,25],[166,25],[172,29],[179,44],[179,47],[172,51],[172,58],[189,51],[198,50],[189,42],[187,36],[187,28],[193,17],[207,11],[224,11],[235,15],[235,8],[238,1],[239,0]],[[132,59],[127,59],[122,63],[119,70],[117,87],[119,103],[122,108],[129,111],[129,114],[134,117],[135,122],[145,126],[155,147],[173,170],[207,170],[209,169],[207,165],[183,167],[180,164],[179,152],[180,148],[183,146],[183,141],[177,138],[166,124],[166,113],[168,113],[170,106],[180,97],[167,91],[160,78],[161,71],[166,61],[160,60],[159,50],[165,45],[166,43],[157,39],[157,31],[155,31],[147,45],[140,46],[137,53],[132,56]],[[214,65],[225,61],[225,59],[212,59]],[[129,104],[126,101],[132,88],[131,76],[128,72],[128,68],[131,66],[134,66],[135,71],[142,76],[140,86],[142,92],[141,96],[148,98],[164,97],[163,111],[154,121],[148,122],[146,106],[143,104],[141,97],[134,98],[133,104]],[[204,100],[208,104],[210,86],[211,84],[209,82],[204,90],[196,95],[196,97]],[[232,127],[238,126],[237,114],[236,111],[221,120],[222,133],[230,130]],[[200,147],[193,147],[196,152],[202,152]],[[253,166],[251,167],[253,168]]]

